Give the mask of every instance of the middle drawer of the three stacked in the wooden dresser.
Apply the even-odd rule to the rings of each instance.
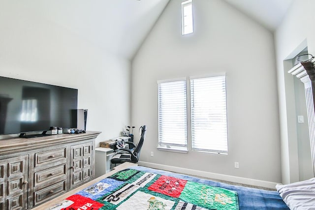
[[[60,165],[34,173],[34,186],[51,185],[66,179],[66,165]]]

